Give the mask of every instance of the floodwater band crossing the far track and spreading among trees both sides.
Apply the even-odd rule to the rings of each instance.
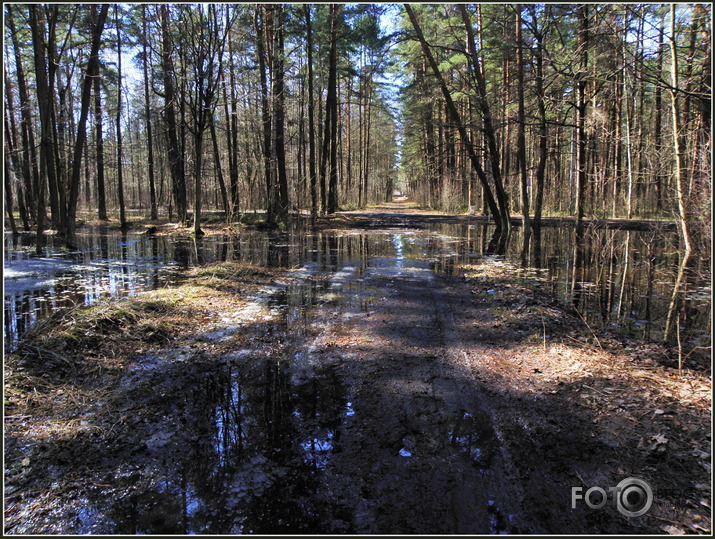
[[[434,224],[428,231],[399,233],[245,232],[237,238],[170,238],[96,230],[79,236],[80,248],[68,253],[50,236],[46,254],[33,253],[31,236],[13,243],[5,236],[4,337],[6,349],[37,320],[57,309],[91,304],[102,298],[132,295],[169,286],[189,266],[223,260],[301,268],[306,264],[350,272],[365,256],[381,256],[399,268],[407,259],[429,261],[451,273],[487,249],[490,229],[484,224]],[[543,280],[563,302],[574,299],[589,324],[608,326],[646,339],[662,336],[678,267],[677,234],[663,231],[594,229],[586,236],[584,264],[573,268],[574,231],[542,229],[540,269],[522,272]],[[520,256],[520,228],[505,258]],[[709,261],[700,279],[691,279],[681,309],[683,335],[693,345],[710,340]],[[698,269],[696,268],[696,272]],[[288,294],[290,298],[292,295]]]

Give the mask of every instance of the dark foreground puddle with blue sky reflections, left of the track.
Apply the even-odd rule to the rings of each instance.
[[[161,465],[144,468],[150,484],[121,499],[98,492],[87,509],[95,517],[79,532],[321,531],[328,507],[315,496],[318,474],[339,443],[348,402],[332,370],[300,381],[293,368],[253,357],[204,372],[175,411],[184,429],[153,427],[147,447]],[[97,521],[107,529],[93,529]]]

